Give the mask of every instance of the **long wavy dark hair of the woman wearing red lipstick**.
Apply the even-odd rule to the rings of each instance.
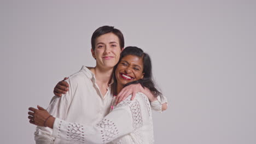
[[[152,64],[151,64],[149,55],[147,53],[143,52],[142,49],[140,49],[136,46],[127,46],[121,52],[119,62],[121,61],[121,59],[123,57],[125,57],[127,55],[133,55],[133,56],[142,58],[142,61],[143,61],[143,72],[142,73],[144,73],[144,77],[143,77],[143,79],[139,79],[137,81],[132,81],[132,82],[126,83],[125,87],[132,85],[132,84],[140,83],[143,88],[147,87],[155,95],[155,97],[158,95],[161,97],[162,93],[160,91],[158,91],[158,89],[155,87],[155,83],[153,81]],[[118,62],[118,64],[119,64],[119,62]],[[115,65],[114,70],[113,70],[114,82],[112,85],[112,93],[114,95],[117,95],[117,77],[115,77],[115,70],[117,69],[118,64]]]

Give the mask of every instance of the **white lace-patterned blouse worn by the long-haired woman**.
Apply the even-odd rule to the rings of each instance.
[[[71,123],[56,118],[53,136],[67,143],[154,143],[152,112],[146,95],[121,101],[95,125]]]

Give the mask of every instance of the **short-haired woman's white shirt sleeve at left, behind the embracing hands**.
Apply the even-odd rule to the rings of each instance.
[[[74,89],[70,79],[66,80],[66,82],[69,84],[69,91],[65,95],[62,95],[62,97],[57,97],[55,95],[46,109],[50,115],[62,119],[65,119],[67,116],[68,107],[71,103]],[[34,132],[34,140],[37,144],[54,143],[55,137],[53,137],[52,134],[53,129],[51,128],[37,127]]]

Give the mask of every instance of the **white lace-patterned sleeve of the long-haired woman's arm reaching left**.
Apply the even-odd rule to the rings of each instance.
[[[137,95],[135,100],[130,100],[130,95],[96,125],[70,123],[55,118],[53,136],[78,143],[108,143],[129,134],[149,121],[148,98],[138,97],[140,96]]]

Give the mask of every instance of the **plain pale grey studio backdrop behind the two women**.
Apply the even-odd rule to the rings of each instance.
[[[94,66],[90,39],[115,26],[153,61],[168,110],[155,143],[256,143],[255,1],[1,1],[0,143],[34,143],[28,107]]]

